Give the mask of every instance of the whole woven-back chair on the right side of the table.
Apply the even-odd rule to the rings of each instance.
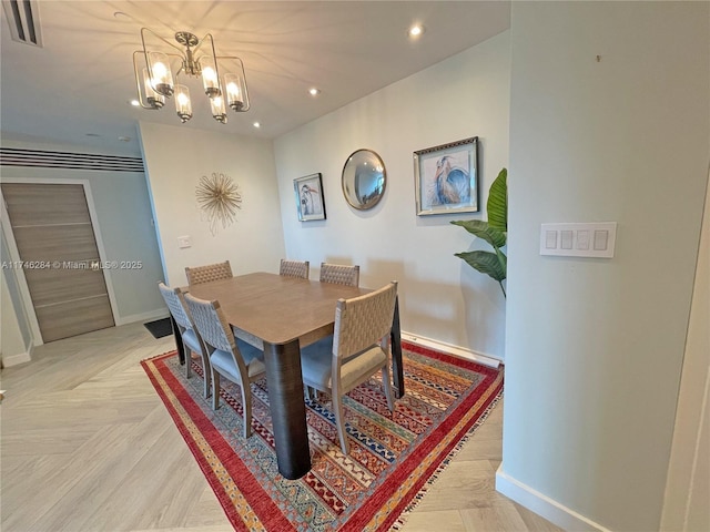
[[[343,396],[378,370],[394,410],[389,380],[389,332],[394,319],[397,283],[354,297],[339,299],[335,309],[335,332],[301,349],[303,383],[331,393],[341,449],[349,452],[345,431]]]

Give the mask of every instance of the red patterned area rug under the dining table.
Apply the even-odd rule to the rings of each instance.
[[[239,388],[222,379],[221,408],[202,397],[202,367],[185,379],[175,352],[141,364],[235,530],[386,531],[399,528],[427,487],[483,423],[503,369],[403,344],[405,396],[387,409],[378,376],[353,390],[339,448],[329,398],[306,401],[312,470],[277,470],[265,379],[252,386],[252,437],[242,437]]]

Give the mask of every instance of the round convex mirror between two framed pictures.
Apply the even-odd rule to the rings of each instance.
[[[372,150],[357,150],[343,166],[343,195],[353,207],[364,211],[377,205],[385,193],[385,163]]]

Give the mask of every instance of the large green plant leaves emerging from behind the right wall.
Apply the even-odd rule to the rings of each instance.
[[[493,252],[475,250],[455,253],[457,257],[466,260],[473,268],[486,274],[498,282],[504,297],[506,289],[503,282],[507,277],[508,257],[503,252],[507,243],[508,233],[508,171],[503,168],[488,191],[488,222],[481,219],[457,219],[452,222],[460,225],[466,231],[483,238],[494,248]]]

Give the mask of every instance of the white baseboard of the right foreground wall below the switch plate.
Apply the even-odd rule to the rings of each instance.
[[[609,529],[580,515],[539,491],[534,490],[529,485],[517,481],[513,477],[508,477],[503,471],[503,463],[498,466],[498,470],[496,471],[496,491],[564,530],[574,530],[575,532],[610,532]]]

